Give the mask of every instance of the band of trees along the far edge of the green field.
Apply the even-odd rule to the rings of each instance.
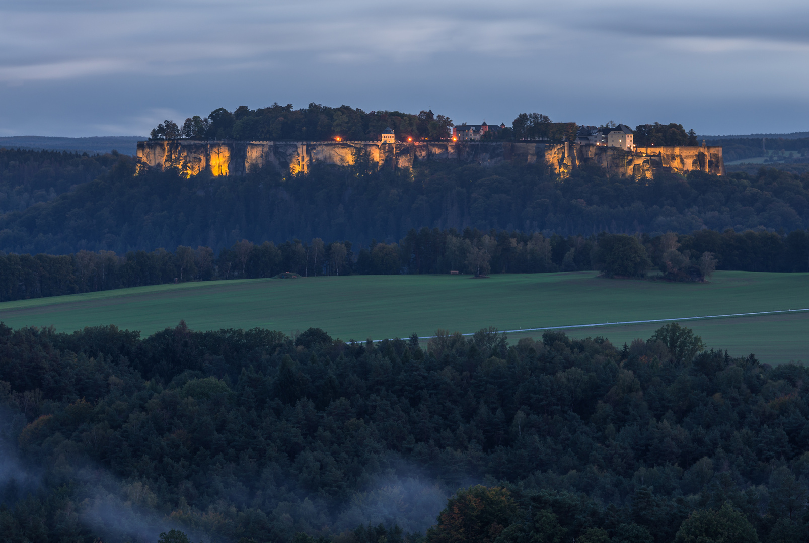
[[[650,269],[667,280],[705,280],[715,269],[809,272],[809,234],[700,230],[674,233],[569,236],[488,233],[477,229],[412,229],[398,243],[324,243],[294,239],[236,242],[216,255],[210,247],[176,250],[80,250],[72,255],[0,255],[0,301],[87,293],[148,284],[299,276],[470,273],[542,273],[599,270],[604,276],[644,277]]]

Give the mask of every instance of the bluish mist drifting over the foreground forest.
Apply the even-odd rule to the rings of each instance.
[[[89,531],[104,537],[108,543],[154,543],[160,533],[172,528],[188,534],[196,543],[210,540],[204,531],[188,528],[182,522],[190,506],[184,498],[187,483],[177,489],[179,503],[174,511],[159,511],[159,503],[150,482],[138,478],[117,478],[108,469],[87,457],[78,459],[77,469],[60,465],[36,465],[20,459],[19,436],[25,427],[25,417],[11,410],[0,410],[0,503],[13,508],[29,494],[46,491],[49,486],[68,484],[78,486],[75,493],[80,503],[70,502],[63,515],[65,521],[77,524],[79,531]],[[265,488],[260,490],[261,509],[271,508],[269,515],[286,524],[290,536],[294,532],[335,536],[354,530],[360,525],[401,528],[404,533],[424,533],[435,523],[436,516],[446,506],[456,490],[451,485],[430,481],[420,470],[399,457],[389,459],[394,469],[369,474],[363,490],[355,492],[343,506],[334,507],[318,495],[299,488],[273,469],[265,469]],[[396,473],[394,473],[396,472]],[[464,481],[468,486],[473,481]],[[230,496],[239,509],[256,506],[256,495],[234,492]],[[231,506],[222,504],[209,510],[213,515],[232,514]],[[80,526],[78,526],[80,525]],[[83,529],[82,529],[83,528]]]

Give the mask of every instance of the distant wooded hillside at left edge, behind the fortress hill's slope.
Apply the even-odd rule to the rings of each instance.
[[[48,202],[98,178],[116,155],[0,148],[0,214]]]

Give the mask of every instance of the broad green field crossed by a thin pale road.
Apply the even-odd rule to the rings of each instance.
[[[809,274],[717,272],[707,284],[606,280],[595,272],[468,276],[345,276],[231,280],[124,288],[0,304],[7,326],[116,324],[149,335],[184,319],[194,330],[265,327],[286,334],[318,326],[344,340],[516,330],[646,319],[682,319],[809,308]],[[684,322],[709,347],[780,363],[809,360],[809,313]],[[661,323],[565,330],[621,344]],[[510,339],[540,337],[511,333]]]

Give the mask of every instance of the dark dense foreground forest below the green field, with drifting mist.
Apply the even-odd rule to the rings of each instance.
[[[623,347],[560,332],[509,346],[491,329],[375,344],[0,326],[0,530],[807,541],[809,370],[712,347],[677,324]]]

